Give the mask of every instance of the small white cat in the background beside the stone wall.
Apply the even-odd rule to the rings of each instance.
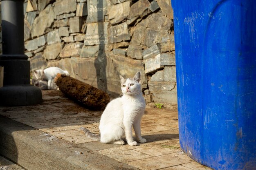
[[[58,73],[69,75],[68,71],[62,70],[61,68],[58,68],[58,67],[48,67],[48,68],[45,68],[44,70],[39,69],[34,71],[34,75],[36,79],[47,80],[48,90],[52,89],[52,81]]]

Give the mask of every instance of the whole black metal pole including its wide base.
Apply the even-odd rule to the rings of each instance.
[[[0,88],[0,105],[22,106],[38,104],[42,93],[30,85],[30,62],[24,54],[24,0],[1,0],[2,55],[4,86]]]

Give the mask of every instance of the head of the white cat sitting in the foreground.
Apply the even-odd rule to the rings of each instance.
[[[140,72],[133,78],[124,79],[121,75],[121,89],[124,95],[138,95],[141,93]]]

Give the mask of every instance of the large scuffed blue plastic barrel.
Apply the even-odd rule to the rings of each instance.
[[[256,0],[171,0],[181,149],[256,170]]]

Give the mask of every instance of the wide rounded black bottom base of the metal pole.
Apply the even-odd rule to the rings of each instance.
[[[39,104],[42,101],[40,88],[30,84],[0,88],[0,106],[27,106]]]

